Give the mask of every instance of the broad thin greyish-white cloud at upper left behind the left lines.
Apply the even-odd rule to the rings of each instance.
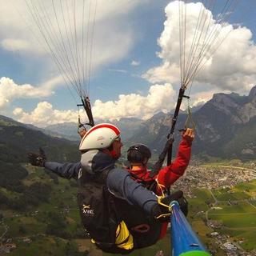
[[[68,1],[62,1],[62,5],[59,2],[54,2],[55,10],[51,0],[31,2],[33,2],[33,6],[39,10],[37,18],[39,21],[43,21],[41,30],[45,30],[47,43],[36,25],[37,22],[34,22],[34,19],[31,17],[29,8],[26,6],[24,0],[11,0],[8,2],[6,2],[6,0],[0,0],[0,6],[2,6],[0,10],[0,46],[2,46],[4,50],[11,52],[18,51],[19,54],[24,54],[22,57],[28,55],[31,57],[31,54],[34,54],[36,57],[37,54],[40,54],[41,61],[46,62],[48,55],[45,49],[48,49],[47,44],[49,43],[54,54],[57,54],[59,62],[62,62],[63,59],[69,59],[71,62],[70,66],[74,68],[78,60],[78,62],[81,63],[80,69],[84,67],[86,70],[90,69],[92,72],[98,70],[99,67],[106,63],[115,62],[123,58],[129,53],[131,47],[134,46],[136,37],[134,34],[135,31],[132,29],[132,24],[127,22],[129,21],[129,14],[138,6],[148,2],[148,0],[98,0],[94,26],[95,2],[85,1],[86,6],[83,13],[83,1],[77,1],[76,38],[74,38],[74,31],[72,31],[74,29],[70,30],[70,27],[68,27],[66,30],[66,26],[70,26],[69,18],[72,19],[72,15],[74,15],[74,13],[70,11],[74,8],[73,2],[69,1],[69,6],[66,5]],[[91,4],[87,6],[89,2],[91,2]],[[28,1],[28,3],[30,5],[30,1]],[[126,7],[124,8],[124,6]],[[45,10],[43,10],[44,8]],[[62,15],[62,8],[64,15]],[[82,30],[87,29],[89,18],[88,10],[91,10],[90,30],[82,33]],[[56,22],[54,11],[56,11],[59,19],[58,23]],[[63,16],[66,17],[66,26],[63,21]],[[73,23],[71,23],[71,25],[73,26]],[[6,30],[6,27],[8,27],[8,30]],[[70,31],[72,31],[73,34],[71,34]],[[92,37],[93,31],[94,38]],[[53,34],[54,36],[49,36],[49,34]],[[66,46],[66,51],[61,47],[62,40]],[[77,47],[74,46],[74,41]],[[58,42],[58,44],[54,42]],[[82,48],[84,49],[83,54]],[[78,55],[76,54],[77,50]],[[42,58],[42,54],[45,55],[45,58]],[[67,55],[69,55],[69,58],[66,57]],[[71,55],[74,56],[74,59]],[[82,60],[82,55],[86,61]],[[65,69],[70,70],[70,66],[66,64]],[[48,64],[45,65],[44,68],[52,69],[52,66]],[[76,70],[72,70],[71,73],[75,71]]]

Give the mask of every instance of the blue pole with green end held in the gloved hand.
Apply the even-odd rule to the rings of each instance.
[[[190,223],[179,208],[178,202],[170,202],[171,214],[171,241],[173,256],[202,255],[210,256],[205,246],[199,241],[198,236],[192,230]]]

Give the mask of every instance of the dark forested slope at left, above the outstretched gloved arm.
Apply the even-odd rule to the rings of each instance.
[[[46,150],[55,161],[77,161],[78,143],[47,135],[43,130],[0,115],[0,161],[27,162],[27,152]]]

